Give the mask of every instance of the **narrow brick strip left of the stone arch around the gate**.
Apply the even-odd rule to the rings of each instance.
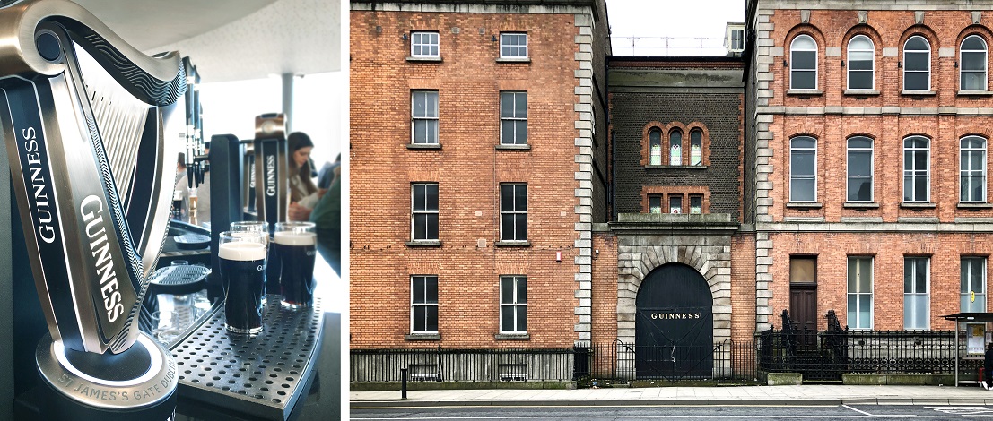
[[[593,343],[609,344],[618,338],[618,238],[595,233],[593,250]]]

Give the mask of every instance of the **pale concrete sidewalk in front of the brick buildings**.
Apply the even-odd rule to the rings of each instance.
[[[572,405],[993,405],[993,390],[972,386],[798,385],[598,389],[353,391],[351,406]]]

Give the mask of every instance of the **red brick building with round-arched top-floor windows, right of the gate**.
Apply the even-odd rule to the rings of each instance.
[[[757,327],[986,311],[993,4],[758,0],[748,18]]]

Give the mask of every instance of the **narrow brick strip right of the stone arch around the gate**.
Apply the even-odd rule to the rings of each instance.
[[[731,237],[731,339],[752,341],[755,335],[755,233]]]

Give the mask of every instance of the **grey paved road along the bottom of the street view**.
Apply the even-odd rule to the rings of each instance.
[[[993,418],[990,406],[489,406],[352,408],[353,420],[948,420]]]

